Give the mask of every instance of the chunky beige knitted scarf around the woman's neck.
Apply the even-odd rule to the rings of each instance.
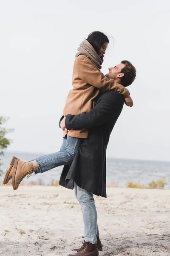
[[[77,50],[78,52],[76,54],[76,57],[78,57],[81,54],[88,56],[88,58],[90,58],[94,62],[98,70],[101,70],[103,58],[99,57],[99,55],[97,54],[93,46],[87,41],[87,39],[82,41]]]

